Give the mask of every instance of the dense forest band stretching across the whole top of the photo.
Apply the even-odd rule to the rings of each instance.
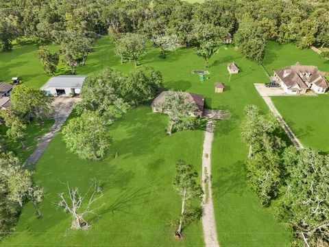
[[[247,58],[262,62],[265,42],[295,42],[298,47],[329,45],[329,3],[301,1],[217,1],[187,3],[180,0],[0,0],[0,43],[3,50],[21,37],[62,44],[65,63],[73,70],[77,52],[64,47],[89,47],[103,34],[138,33],[161,47],[175,40],[194,45],[206,60],[224,36],[200,43],[204,30],[219,28],[233,34],[234,43]],[[236,38],[235,38],[236,34]],[[74,38],[76,37],[75,42]],[[69,40],[67,40],[69,38]],[[88,40],[91,38],[92,40]],[[63,44],[64,42],[64,44]],[[163,44],[163,45],[161,45]],[[77,47],[77,46],[80,46]],[[89,49],[85,49],[88,50]],[[86,54],[81,54],[82,63]],[[162,49],[164,56],[165,49]],[[80,59],[79,58],[79,59]],[[81,62],[81,61],[80,61]]]

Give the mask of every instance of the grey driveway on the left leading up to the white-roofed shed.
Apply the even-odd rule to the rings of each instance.
[[[77,97],[56,97],[53,102],[55,112],[53,113],[53,119],[55,119],[55,124],[51,126],[49,131],[40,139],[40,142],[36,146],[34,152],[27,158],[23,166],[34,165],[40,156],[45,152],[50,141],[60,130],[67,117],[71,114],[73,110],[73,104],[79,101],[80,98]]]

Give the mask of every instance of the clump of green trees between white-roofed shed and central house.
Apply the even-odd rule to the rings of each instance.
[[[110,148],[110,125],[129,108],[138,106],[162,89],[162,76],[150,67],[135,67],[129,74],[106,68],[84,82],[78,117],[62,130],[66,146],[80,158],[99,160]]]

